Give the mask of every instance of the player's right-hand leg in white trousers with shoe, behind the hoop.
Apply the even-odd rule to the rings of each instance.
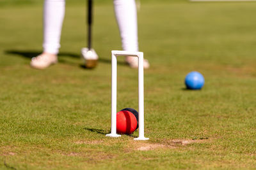
[[[137,52],[138,25],[135,0],[113,0],[113,3],[122,40],[122,48],[125,51]],[[138,59],[136,57],[126,57],[125,60],[131,67],[138,67]],[[144,67],[149,67],[147,60],[144,62]]]

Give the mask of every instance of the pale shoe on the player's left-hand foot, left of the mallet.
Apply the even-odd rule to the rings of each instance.
[[[31,59],[30,66],[36,69],[45,69],[46,67],[56,64],[57,62],[57,55],[41,54]]]

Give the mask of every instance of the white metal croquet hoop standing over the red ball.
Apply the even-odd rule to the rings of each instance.
[[[117,79],[117,56],[138,57],[138,97],[139,97],[139,137],[134,140],[148,140],[144,136],[144,76],[143,76],[143,52],[127,52],[113,50],[111,64],[111,133],[106,136],[116,138],[116,79]]]

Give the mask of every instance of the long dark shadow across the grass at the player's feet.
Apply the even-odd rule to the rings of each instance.
[[[8,54],[8,55],[19,55],[20,57],[24,57],[26,59],[31,59],[32,57],[35,57],[37,55],[39,55],[40,53],[42,53],[42,51],[33,51],[33,50],[5,50],[4,53]],[[80,59],[81,56],[78,55],[77,53],[68,53],[68,52],[61,52],[58,54],[59,57],[71,57],[71,58],[76,58],[76,59]],[[63,61],[60,61],[60,62],[63,62]],[[107,64],[111,64],[111,57],[109,57],[109,59],[102,59],[102,58],[99,58],[99,62],[102,62],[102,63],[107,63]],[[120,61],[117,61],[117,64],[119,65],[126,65],[125,62],[120,62]],[[85,66],[83,66],[81,64],[82,68],[86,68]],[[88,68],[86,68],[88,69]]]

